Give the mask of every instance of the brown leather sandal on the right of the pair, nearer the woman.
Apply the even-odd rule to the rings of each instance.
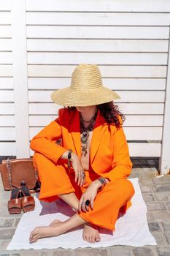
[[[21,203],[22,203],[23,212],[34,211],[35,200],[34,200],[34,197],[31,196],[28,187],[21,186],[20,191],[22,195]]]

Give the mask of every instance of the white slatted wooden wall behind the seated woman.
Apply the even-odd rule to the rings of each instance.
[[[0,155],[32,155],[61,108],[50,94],[98,64],[120,94],[131,157],[161,157],[167,173],[169,12],[169,0],[0,0]]]

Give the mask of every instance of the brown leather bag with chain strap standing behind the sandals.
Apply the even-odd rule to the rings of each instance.
[[[4,190],[19,188],[21,182],[26,183],[29,189],[40,188],[38,173],[31,158],[2,160],[0,170]]]

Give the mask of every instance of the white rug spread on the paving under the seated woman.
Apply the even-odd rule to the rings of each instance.
[[[101,233],[101,241],[98,243],[90,244],[87,241],[84,241],[82,239],[82,227],[79,227],[72,232],[68,232],[61,236],[42,238],[36,243],[30,244],[28,238],[34,227],[49,225],[54,219],[63,221],[74,214],[72,208],[67,206],[62,200],[58,200],[58,203],[57,201],[53,203],[44,203],[38,200],[38,195],[35,195],[35,210],[23,214],[12,241],[7,246],[7,250],[53,249],[59,247],[65,249],[75,249],[78,247],[96,248],[112,245],[157,245],[155,238],[150,233],[147,225],[147,207],[142,198],[138,178],[131,178],[130,181],[135,189],[135,195],[131,200],[132,206],[123,217],[117,219],[115,232],[112,233],[112,231],[104,229],[99,230]]]

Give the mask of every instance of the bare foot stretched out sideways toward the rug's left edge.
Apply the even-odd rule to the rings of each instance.
[[[30,243],[35,243],[40,238],[61,235],[63,233],[62,226],[63,222],[61,222],[58,219],[55,219],[53,222],[50,223],[49,226],[36,227],[30,233],[29,241]]]

